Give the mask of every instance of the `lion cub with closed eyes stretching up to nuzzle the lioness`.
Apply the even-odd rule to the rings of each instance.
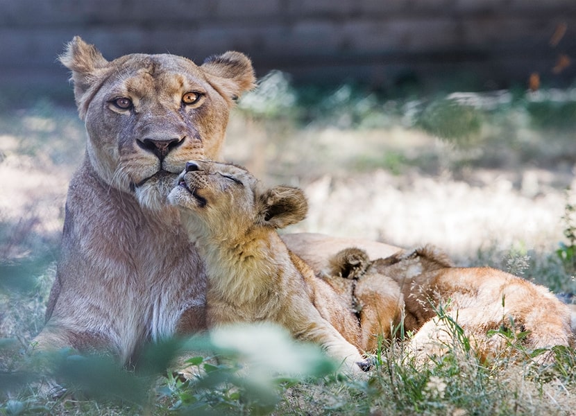
[[[353,313],[276,232],[305,218],[300,189],[262,189],[244,168],[198,161],[186,164],[169,201],[205,261],[208,327],[276,322],[361,371],[366,362],[349,342],[358,336]]]

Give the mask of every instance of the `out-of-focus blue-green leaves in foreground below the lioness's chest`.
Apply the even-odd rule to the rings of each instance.
[[[0,348],[13,343],[3,340]],[[31,414],[58,392],[57,400],[74,397],[130,412],[268,415],[288,385],[337,369],[319,347],[296,343],[272,324],[237,325],[151,343],[132,367],[124,369],[109,354],[78,354],[71,349],[26,355],[19,365],[27,370],[0,373],[0,403],[6,399],[0,414]],[[32,392],[42,380],[51,385],[56,381],[58,386],[47,397],[24,392],[27,385]],[[15,393],[26,399],[8,400]]]

